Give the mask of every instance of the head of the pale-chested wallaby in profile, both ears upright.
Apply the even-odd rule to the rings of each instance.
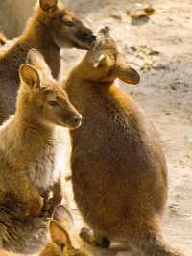
[[[17,112],[27,113],[44,124],[56,124],[69,129],[78,128],[81,115],[70,103],[66,92],[53,79],[42,55],[29,51],[27,64],[20,66],[21,87],[18,92]]]

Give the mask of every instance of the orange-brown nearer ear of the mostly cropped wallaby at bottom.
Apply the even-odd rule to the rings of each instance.
[[[52,241],[56,244],[71,246],[71,241],[68,233],[54,220],[51,220],[49,224],[49,230],[51,234]]]

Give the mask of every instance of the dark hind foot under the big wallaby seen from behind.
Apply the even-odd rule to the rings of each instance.
[[[92,232],[90,229],[84,227],[80,232],[80,237],[84,242],[94,246],[101,246],[103,248],[108,248],[110,246],[110,241],[100,231],[94,230]]]

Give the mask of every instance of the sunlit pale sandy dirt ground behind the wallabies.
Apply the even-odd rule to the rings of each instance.
[[[160,133],[169,167],[169,200],[163,222],[168,242],[192,255],[192,8],[191,0],[151,1],[156,12],[133,21],[130,0],[65,1],[95,31],[108,25],[125,59],[140,70],[140,85],[121,86]],[[61,77],[83,51],[64,50]],[[70,186],[67,187],[70,197]],[[71,205],[74,215],[77,210]],[[77,217],[78,225],[81,218]],[[97,255],[115,255],[101,251]],[[119,254],[121,255],[121,254]],[[132,255],[128,252],[122,255]]]

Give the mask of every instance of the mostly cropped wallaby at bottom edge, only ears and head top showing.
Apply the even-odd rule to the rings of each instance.
[[[74,248],[71,241],[73,225],[70,212],[64,206],[57,206],[49,225],[52,242],[46,245],[39,256],[90,256],[90,253],[84,254],[82,250]]]

